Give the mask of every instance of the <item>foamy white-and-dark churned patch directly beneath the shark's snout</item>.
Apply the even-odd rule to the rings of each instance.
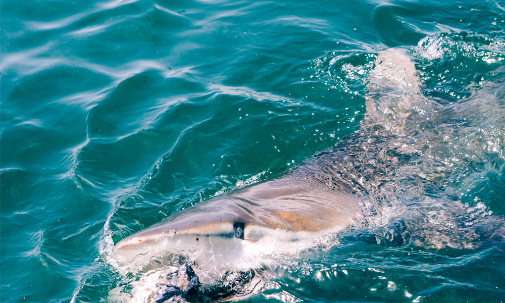
[[[246,297],[262,283],[259,269],[226,272],[220,281],[211,285],[201,283],[197,272],[197,265],[186,261],[151,270],[138,281],[112,289],[109,292],[109,302],[215,302]]]

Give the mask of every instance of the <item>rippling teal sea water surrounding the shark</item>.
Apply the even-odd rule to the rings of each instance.
[[[420,122],[433,145],[397,163],[433,186],[402,183],[389,201],[428,219],[442,209],[438,225],[467,229],[447,232],[453,245],[430,242],[435,219],[401,245],[351,229],[279,261],[250,299],[503,301],[505,2],[0,6],[2,302],[107,301],[133,279],[109,264],[111,239],[347,142],[389,47],[410,49],[440,106]],[[414,207],[419,196],[430,208]],[[466,211],[439,203],[447,197]],[[373,232],[387,225],[379,217]]]

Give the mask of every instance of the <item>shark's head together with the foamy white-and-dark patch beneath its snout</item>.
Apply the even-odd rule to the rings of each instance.
[[[135,296],[248,294],[269,261],[327,240],[361,216],[354,196],[294,180],[299,176],[258,183],[180,211],[119,241],[112,257],[121,267],[142,268]]]

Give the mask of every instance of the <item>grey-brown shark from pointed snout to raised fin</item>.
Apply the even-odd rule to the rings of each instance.
[[[434,199],[425,193],[436,191],[440,187],[437,180],[449,176],[451,169],[438,166],[440,170],[431,169],[432,173],[420,171],[424,164],[437,167],[429,163],[432,158],[425,157],[430,135],[424,130],[436,123],[434,119],[442,119],[437,115],[440,108],[423,96],[420,86],[418,72],[405,50],[381,52],[369,75],[367,112],[359,131],[277,179],[216,196],[119,241],[113,254],[120,264],[146,265],[156,259],[166,265],[174,256],[185,260],[182,267],[154,270],[158,278],[178,276],[178,282],[165,281],[160,288],[148,286],[145,280],[141,285],[145,291],[133,296],[131,302],[163,302],[172,296],[201,300],[188,295],[191,285],[216,275],[227,279],[231,272],[242,273],[231,281],[245,285],[246,290],[233,291],[230,286],[222,295],[206,298],[240,297],[258,288],[262,277],[250,270],[261,267],[270,257],[297,254],[321,243],[322,238],[371,221],[387,221],[382,234],[374,234],[377,243],[399,245],[409,238],[428,243],[430,239],[409,226],[419,222],[419,210]],[[500,106],[499,101],[497,104]],[[413,157],[422,161],[414,164]],[[403,203],[398,203],[399,199]],[[442,200],[447,204],[437,212],[437,218],[462,208],[456,199]],[[411,215],[395,221],[406,208]],[[444,245],[443,241],[435,242]],[[467,247],[469,243],[446,244]],[[154,267],[147,266],[150,268]],[[220,274],[207,272],[198,280],[198,273],[205,271]],[[156,281],[153,283],[159,285],[160,279]]]

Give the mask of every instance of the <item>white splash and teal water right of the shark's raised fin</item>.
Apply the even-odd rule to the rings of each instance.
[[[429,93],[439,102],[457,102],[499,78],[496,69],[505,60],[505,41],[466,32],[442,33],[423,38],[410,53],[420,59],[421,79]]]

